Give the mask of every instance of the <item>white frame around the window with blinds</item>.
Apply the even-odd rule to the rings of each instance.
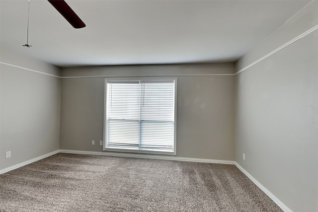
[[[174,80],[174,133],[173,150],[163,149],[136,149],[127,147],[108,147],[107,146],[107,82],[108,81],[167,81]],[[151,154],[169,154],[176,155],[176,129],[177,129],[177,78],[176,77],[107,77],[104,81],[104,125],[103,125],[103,151],[133,152],[133,153],[151,153]]]

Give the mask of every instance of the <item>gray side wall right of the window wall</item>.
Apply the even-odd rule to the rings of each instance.
[[[254,52],[287,42],[268,49],[269,40],[306,31],[304,20],[307,29],[318,24],[317,1],[244,56],[238,70],[254,62]],[[235,160],[293,212],[318,212],[318,30],[237,75]]]

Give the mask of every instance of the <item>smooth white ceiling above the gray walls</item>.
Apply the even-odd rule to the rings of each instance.
[[[309,0],[0,0],[1,48],[60,66],[234,62]]]

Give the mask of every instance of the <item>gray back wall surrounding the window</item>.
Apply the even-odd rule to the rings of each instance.
[[[234,64],[64,68],[63,76],[178,76],[178,157],[234,160]],[[60,148],[102,151],[104,77],[63,78]]]

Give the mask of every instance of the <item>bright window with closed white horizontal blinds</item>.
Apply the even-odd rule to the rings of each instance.
[[[104,150],[175,154],[175,84],[106,80]]]

